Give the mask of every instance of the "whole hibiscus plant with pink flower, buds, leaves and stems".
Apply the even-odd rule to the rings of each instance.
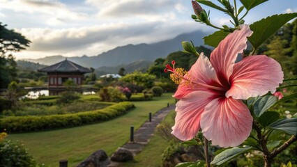
[[[208,58],[198,53],[192,42],[182,42],[186,52],[199,56],[196,63],[188,72],[175,68],[175,61],[166,65],[165,72],[172,72],[170,77],[178,84],[173,96],[178,102],[172,134],[191,144],[203,142],[206,158],[206,161],[177,166],[221,165],[254,150],[262,152],[264,166],[271,166],[277,154],[296,141],[297,115],[281,118],[273,109],[297,97],[297,93],[283,97],[277,91],[296,86],[286,82],[297,79],[284,79],[280,63],[266,55],[257,55],[257,50],[284,24],[297,17],[297,13],[273,15],[248,25],[244,23],[245,15],[266,0],[240,1],[242,6],[237,8],[235,0],[233,3],[218,0],[220,6],[207,0],[192,0],[195,12],[192,18],[218,29],[204,38],[205,44],[215,49]],[[213,25],[210,13],[200,4],[226,13],[234,26]],[[244,52],[247,42],[252,45],[249,54]],[[277,140],[271,137],[275,132],[287,136]],[[204,139],[197,134],[202,134]],[[223,151],[211,159],[210,145],[218,145]]]

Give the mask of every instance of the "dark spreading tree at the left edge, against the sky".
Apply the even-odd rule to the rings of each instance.
[[[17,77],[17,64],[11,52],[24,50],[31,43],[22,34],[6,29],[6,26],[0,22],[0,88],[7,88],[10,81]]]

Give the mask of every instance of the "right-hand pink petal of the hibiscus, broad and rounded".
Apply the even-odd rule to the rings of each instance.
[[[280,63],[265,55],[248,56],[234,65],[226,97],[247,100],[249,97],[275,93],[282,83],[284,72]]]

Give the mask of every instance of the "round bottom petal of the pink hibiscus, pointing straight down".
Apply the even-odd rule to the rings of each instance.
[[[241,100],[220,97],[205,107],[200,125],[203,135],[213,145],[234,147],[250,135],[252,116]]]

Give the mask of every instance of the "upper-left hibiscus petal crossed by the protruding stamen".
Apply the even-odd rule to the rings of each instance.
[[[215,74],[215,70],[211,66],[209,59],[204,56],[203,53],[200,54],[196,63],[192,65],[188,73],[185,74],[185,78],[201,84],[218,83],[218,77]],[[178,86],[178,89],[176,90],[176,93],[174,93],[173,97],[181,99],[192,91],[206,90],[204,87],[190,84],[190,81],[181,81],[181,84]]]

